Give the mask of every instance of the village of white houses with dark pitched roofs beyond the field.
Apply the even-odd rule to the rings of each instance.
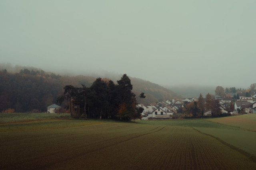
[[[234,98],[233,96],[239,96]],[[248,97],[246,92],[240,92],[237,94],[224,94],[221,96],[211,95],[213,99],[219,100],[219,108],[222,114],[229,115],[237,114],[250,114],[256,113],[256,94]],[[203,98],[204,104],[206,104],[206,98]],[[184,98],[184,99],[172,99],[165,102],[151,103],[148,105],[138,104],[138,107],[142,107],[142,120],[148,119],[171,119],[175,118],[175,115],[182,115],[183,108],[190,102],[198,101],[198,98]],[[230,105],[234,109],[230,111]],[[212,109],[204,110],[203,116],[211,116]]]

